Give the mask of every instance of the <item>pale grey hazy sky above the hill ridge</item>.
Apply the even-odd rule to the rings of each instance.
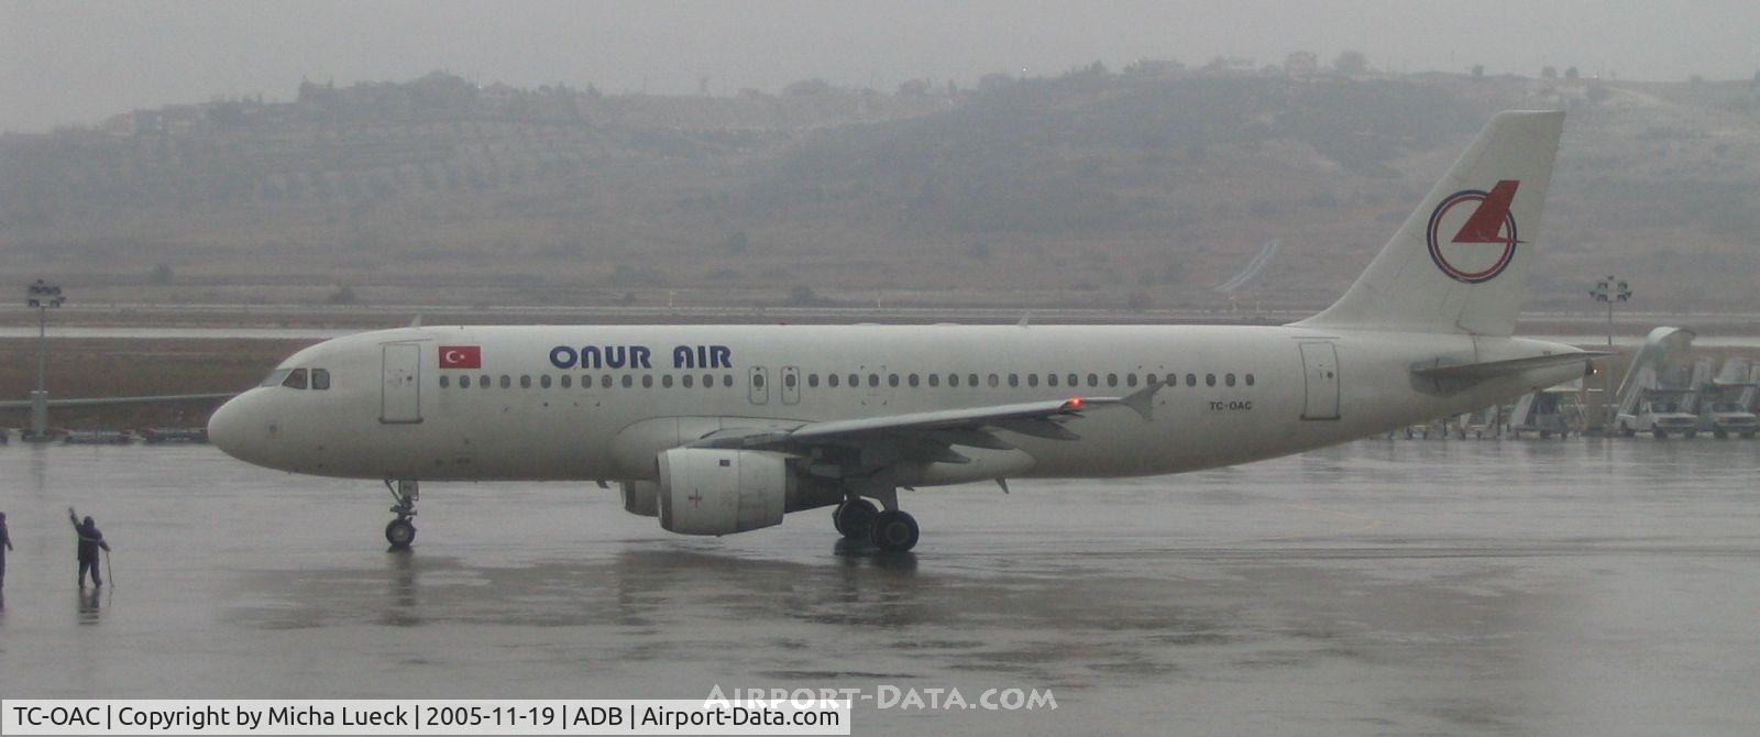
[[[0,0],[0,130],[93,123],[215,95],[292,99],[301,77],[605,91],[774,91],[804,77],[1056,74],[1102,60],[1281,63],[1359,49],[1376,67],[1748,79],[1755,0],[1160,2],[69,2]]]

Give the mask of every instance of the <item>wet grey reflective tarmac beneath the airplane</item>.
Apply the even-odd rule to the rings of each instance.
[[[855,733],[1756,733],[1760,443],[1360,441],[905,494],[683,538],[591,484],[371,482],[209,447],[0,447],[5,697],[700,698],[1049,690]],[[67,507],[114,545],[72,582]],[[928,698],[928,697],[926,697]]]

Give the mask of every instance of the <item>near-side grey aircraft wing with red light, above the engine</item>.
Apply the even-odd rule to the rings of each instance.
[[[996,431],[1051,440],[1077,440],[1063,422],[1105,406],[1126,406],[1149,419],[1151,399],[1162,389],[1153,383],[1123,398],[1070,398],[1019,405],[972,406],[961,410],[910,412],[857,420],[808,422],[792,429],[729,429],[700,438],[686,447],[810,452],[815,447],[885,445],[905,457],[963,463],[954,445],[1012,450]]]

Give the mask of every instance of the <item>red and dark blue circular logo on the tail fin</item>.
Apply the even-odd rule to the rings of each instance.
[[[1461,190],[1436,204],[1424,239],[1441,273],[1456,281],[1484,283],[1510,267],[1522,243],[1510,215],[1517,186],[1521,181],[1503,179],[1491,192]],[[1448,243],[1440,237],[1445,232],[1454,232]]]

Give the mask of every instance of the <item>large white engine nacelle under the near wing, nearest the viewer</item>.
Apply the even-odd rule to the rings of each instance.
[[[762,450],[672,449],[660,454],[660,526],[730,535],[781,524],[788,463]]]

